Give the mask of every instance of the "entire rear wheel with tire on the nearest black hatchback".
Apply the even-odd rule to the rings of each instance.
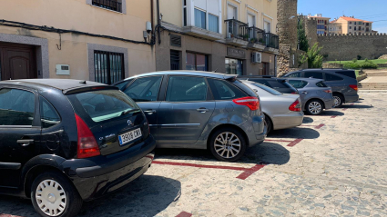
[[[42,173],[36,177],[31,187],[31,201],[36,212],[44,217],[76,216],[83,203],[74,185],[56,172]]]

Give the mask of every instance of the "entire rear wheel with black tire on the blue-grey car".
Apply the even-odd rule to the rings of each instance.
[[[223,162],[238,161],[246,152],[247,146],[248,144],[243,134],[232,127],[221,128],[212,133],[209,138],[211,153],[215,158]]]

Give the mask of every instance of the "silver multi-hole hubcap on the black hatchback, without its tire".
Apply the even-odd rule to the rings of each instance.
[[[37,185],[35,197],[40,210],[48,216],[58,216],[66,209],[66,192],[54,180],[40,182]]]

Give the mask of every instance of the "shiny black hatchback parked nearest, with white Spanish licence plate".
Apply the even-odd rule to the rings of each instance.
[[[74,216],[148,170],[156,143],[117,87],[65,79],[0,82],[0,193],[42,216]]]

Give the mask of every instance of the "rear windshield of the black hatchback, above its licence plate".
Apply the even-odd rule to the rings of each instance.
[[[68,95],[68,98],[73,104],[79,103],[95,123],[139,110],[135,102],[126,94],[117,90],[86,92]]]

